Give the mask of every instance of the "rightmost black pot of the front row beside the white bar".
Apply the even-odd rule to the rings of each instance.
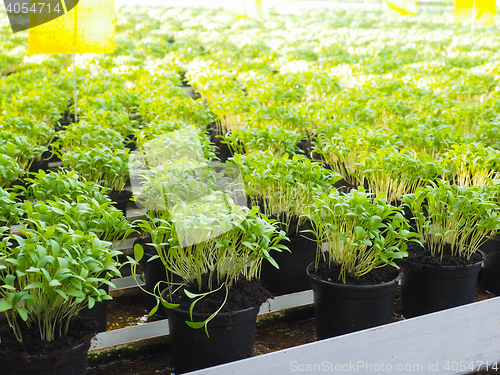
[[[411,318],[472,303],[483,261],[466,267],[401,264],[402,310],[405,318]]]

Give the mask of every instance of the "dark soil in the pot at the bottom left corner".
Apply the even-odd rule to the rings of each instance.
[[[17,341],[7,320],[0,320],[0,357],[28,362],[28,356],[50,355],[56,360],[62,358],[66,351],[90,341],[97,333],[97,322],[92,318],[76,316],[71,319],[67,336],[58,337],[53,342],[44,341],[36,325],[27,327],[24,322],[20,323],[23,342]],[[1,371],[0,371],[1,372]]]

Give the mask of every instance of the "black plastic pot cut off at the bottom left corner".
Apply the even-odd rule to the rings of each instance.
[[[89,344],[80,344],[57,360],[51,356],[30,356],[29,362],[0,357],[2,375],[84,375]]]

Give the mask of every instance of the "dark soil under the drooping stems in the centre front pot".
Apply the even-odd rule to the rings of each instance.
[[[192,293],[204,293],[208,291],[208,276],[203,275],[202,278],[203,287],[201,291],[198,289],[198,283],[194,282],[187,287],[187,290]],[[216,287],[213,289],[217,289]],[[194,312],[197,313],[213,313],[216,311],[220,305],[224,302],[226,296],[226,290],[223,287],[221,290],[211,293],[206,297],[202,298],[195,305]],[[244,278],[238,280],[231,289],[224,304],[224,307],[220,311],[221,313],[230,313],[238,310],[245,310],[251,307],[258,307],[271,298],[271,294],[260,284],[259,280],[248,281]],[[173,303],[180,304],[182,310],[189,310],[189,306],[193,302],[184,293],[184,288],[177,291],[173,296]]]

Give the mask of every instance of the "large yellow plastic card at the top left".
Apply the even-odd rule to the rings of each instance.
[[[114,0],[63,0],[62,4],[64,15],[50,22],[40,19],[46,13],[30,14],[30,23],[39,26],[29,30],[29,55],[115,51]]]

